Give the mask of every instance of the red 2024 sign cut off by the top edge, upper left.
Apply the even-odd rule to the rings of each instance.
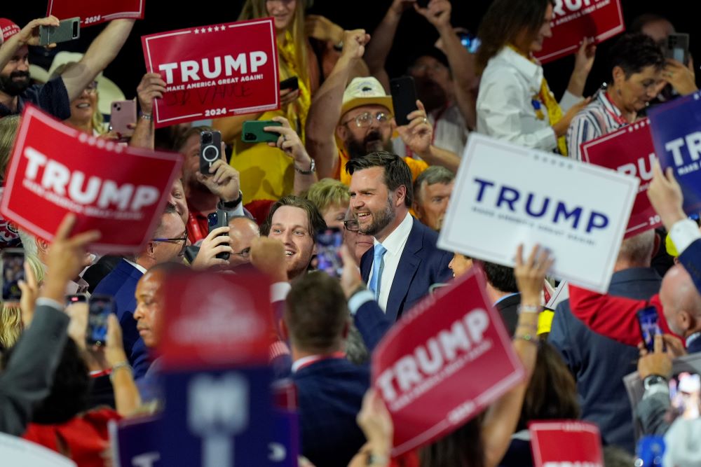
[[[81,27],[99,25],[118,18],[144,18],[146,0],[49,0],[46,15],[59,20],[81,18]]]

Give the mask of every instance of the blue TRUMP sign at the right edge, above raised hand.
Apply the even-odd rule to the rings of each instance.
[[[684,211],[701,211],[701,93],[675,99],[648,112],[655,153],[662,169],[674,168]]]

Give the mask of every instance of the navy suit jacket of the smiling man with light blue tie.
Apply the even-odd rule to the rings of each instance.
[[[413,221],[387,300],[385,312],[392,321],[397,321],[404,310],[416,305],[431,285],[447,282],[453,277],[448,267],[453,253],[438,249],[438,234],[416,218]],[[371,248],[360,260],[360,271],[366,284],[373,258],[374,248]]]

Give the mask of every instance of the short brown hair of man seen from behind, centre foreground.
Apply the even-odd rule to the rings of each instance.
[[[303,274],[285,302],[285,324],[295,347],[311,352],[341,348],[350,314],[338,280],[325,272]]]

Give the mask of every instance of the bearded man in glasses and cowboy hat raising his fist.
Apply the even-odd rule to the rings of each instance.
[[[433,145],[433,127],[420,101],[409,113],[408,125],[397,126],[392,97],[376,78],[354,78],[346,87],[353,64],[360,60],[369,36],[358,29],[347,31],[343,52],[332,74],[318,90],[306,126],[306,146],[315,160],[319,178],[333,177],[350,183],[348,160],[374,151],[392,151],[392,134],[397,132],[411,153],[421,160],[405,158],[415,179],[428,165],[442,165],[454,172],[460,164],[455,153]]]

